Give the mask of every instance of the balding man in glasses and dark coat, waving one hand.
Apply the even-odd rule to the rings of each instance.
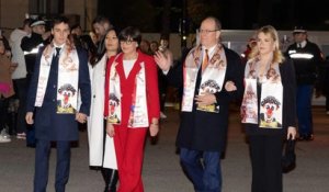
[[[229,102],[242,95],[241,60],[219,43],[220,30],[216,18],[203,20],[201,45],[190,50],[181,67],[170,69],[166,57],[156,54],[156,63],[168,72],[169,82],[183,84],[177,146],[183,170],[197,192],[222,191],[220,155],[226,145]],[[227,81],[232,81],[237,89],[227,92]]]

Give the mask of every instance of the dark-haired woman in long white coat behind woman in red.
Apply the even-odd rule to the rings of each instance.
[[[99,61],[91,66],[91,109],[88,118],[89,165],[101,167],[105,181],[105,192],[115,192],[117,183],[117,166],[113,138],[104,128],[104,81],[107,59],[118,53],[118,39],[114,29],[105,36],[105,53]]]

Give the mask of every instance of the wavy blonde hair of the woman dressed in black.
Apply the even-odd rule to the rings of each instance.
[[[275,48],[273,50],[273,59],[272,63],[281,64],[284,60],[284,56],[280,49],[280,41],[279,41],[279,34],[277,31],[272,25],[265,25],[259,29],[256,32],[256,36],[258,36],[260,33],[264,33],[265,35],[270,34],[272,39],[274,41]],[[259,56],[259,49],[258,46],[253,46],[248,58],[254,59]]]

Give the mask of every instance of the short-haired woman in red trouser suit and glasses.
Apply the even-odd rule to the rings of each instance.
[[[132,26],[118,35],[122,53],[107,63],[105,77],[106,133],[114,138],[118,192],[143,192],[144,144],[159,132],[157,66],[138,50],[140,32]]]

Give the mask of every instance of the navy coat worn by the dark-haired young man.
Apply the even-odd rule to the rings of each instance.
[[[57,114],[57,80],[58,61],[50,67],[48,83],[41,108],[34,106],[39,75],[41,56],[44,47],[39,49],[36,58],[34,74],[30,83],[26,111],[34,112],[35,137],[44,140],[78,140],[79,129],[76,114]],[[91,103],[91,86],[88,68],[88,54],[77,48],[79,57],[79,90],[81,106],[79,112],[89,115]],[[54,57],[55,59],[55,57]]]

